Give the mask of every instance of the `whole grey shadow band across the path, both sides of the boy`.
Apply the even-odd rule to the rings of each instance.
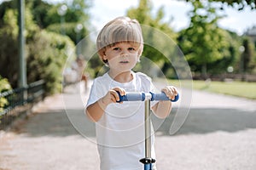
[[[175,112],[175,111],[173,111]],[[157,135],[170,135],[169,129],[173,122],[171,114],[157,129]],[[153,120],[155,117],[153,117]],[[154,122],[154,121],[153,121]],[[191,109],[183,126],[175,135],[191,133],[214,133],[224,131],[235,133],[256,128],[256,114],[253,111],[235,109]],[[64,110],[42,112],[30,117],[26,123],[20,125],[20,133],[31,137],[59,136],[83,134],[86,137],[95,137],[95,124],[90,122],[82,110]]]

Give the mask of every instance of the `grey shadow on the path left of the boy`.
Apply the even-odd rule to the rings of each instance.
[[[29,117],[25,122],[15,125],[14,129],[18,133],[26,133],[31,137],[66,137],[80,133],[86,134],[88,137],[96,136],[95,124],[84,116],[82,110],[40,112]]]

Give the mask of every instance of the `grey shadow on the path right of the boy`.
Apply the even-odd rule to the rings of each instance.
[[[174,114],[167,117],[165,122],[163,122],[157,130],[157,132],[160,133],[157,134],[170,135],[169,129],[173,119]],[[253,111],[216,108],[191,109],[183,126],[175,135],[214,133],[217,131],[236,133],[237,131],[246,130],[247,128],[256,128],[255,122],[256,114]]]

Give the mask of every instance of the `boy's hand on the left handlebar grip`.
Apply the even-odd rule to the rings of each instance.
[[[108,91],[108,94],[106,94],[103,98],[102,98],[102,103],[104,105],[109,105],[111,103],[117,103],[117,101],[119,101],[119,94],[117,93],[119,92],[119,94],[121,96],[125,95],[125,89],[124,88],[112,88]],[[123,102],[120,102],[123,103]]]

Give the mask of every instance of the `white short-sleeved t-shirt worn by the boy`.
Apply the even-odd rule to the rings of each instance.
[[[132,72],[131,82],[120,83],[108,73],[96,77],[90,90],[88,105],[95,103],[108,93],[109,89],[120,87],[126,92],[154,92],[151,79],[143,73]],[[153,129],[153,127],[151,127]],[[141,170],[144,151],[144,102],[125,101],[123,104],[110,104],[102,118],[96,122],[96,140],[101,159],[101,170]],[[154,132],[152,130],[151,156],[154,153]]]

